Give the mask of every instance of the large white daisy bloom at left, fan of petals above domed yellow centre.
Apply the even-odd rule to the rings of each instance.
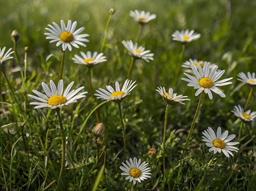
[[[61,108],[64,105],[74,104],[77,102],[78,99],[82,97],[86,97],[87,91],[83,91],[78,94],[80,90],[84,87],[79,87],[78,89],[73,89],[70,91],[74,82],[71,82],[67,88],[64,90],[63,93],[63,80],[61,79],[58,83],[58,87],[56,88],[54,82],[50,80],[50,88],[46,85],[46,83],[42,82],[42,87],[44,89],[45,94],[40,93],[37,90],[32,90],[37,96],[35,95],[28,95],[29,97],[38,100],[40,102],[31,102],[30,105],[37,105],[34,109],[37,108]]]

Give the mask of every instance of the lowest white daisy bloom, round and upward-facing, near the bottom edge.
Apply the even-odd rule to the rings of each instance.
[[[121,175],[127,176],[125,180],[129,179],[129,182],[133,181],[133,184],[136,184],[136,181],[140,183],[143,180],[151,178],[151,168],[147,167],[148,163],[144,161],[140,164],[140,162],[140,159],[137,160],[137,158],[134,157],[133,160],[130,158],[130,162],[126,160],[126,164],[122,163],[123,166],[120,165],[119,168],[124,171]]]

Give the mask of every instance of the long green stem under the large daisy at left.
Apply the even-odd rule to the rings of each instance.
[[[61,144],[62,144],[61,168],[60,168],[60,175],[59,175],[58,186],[57,186],[57,188],[59,188],[61,174],[62,174],[63,167],[64,167],[64,164],[65,164],[66,136],[65,136],[65,132],[64,132],[64,129],[63,129],[63,124],[62,124],[62,121],[61,121],[60,108],[56,108],[56,113],[57,113],[58,118],[59,118],[60,132],[61,132],[61,138],[62,138],[62,142],[61,142]]]

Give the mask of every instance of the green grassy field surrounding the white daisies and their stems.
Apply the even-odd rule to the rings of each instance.
[[[80,51],[100,52],[110,8],[111,17],[103,53],[107,61],[91,68],[93,92],[106,85],[122,86],[127,79],[131,56],[121,43],[136,39],[139,24],[129,16],[130,10],[145,10],[157,18],[144,25],[139,45],[154,53],[149,63],[136,60],[129,79],[138,84],[121,103],[126,128],[126,159],[137,157],[151,167],[151,178],[131,184],[119,167],[124,160],[123,131],[118,104],[90,97],[89,70],[72,61]],[[1,64],[0,116],[0,190],[256,190],[256,125],[244,122],[240,140],[241,119],[231,110],[245,106],[256,110],[255,87],[237,80],[240,72],[256,72],[256,2],[255,0],[1,0],[0,47],[13,48],[11,33],[17,30],[19,63],[10,59]],[[65,164],[61,168],[61,133],[55,109],[34,109],[30,102],[33,89],[44,93],[41,83],[60,80],[61,46],[45,39],[48,24],[60,25],[63,19],[77,21],[81,34],[89,34],[87,47],[65,51],[64,88],[88,91],[77,103],[65,105],[60,114],[65,131]],[[172,40],[182,29],[195,30],[201,38],[185,45]],[[26,79],[24,47],[27,53]],[[47,61],[46,57],[53,54]],[[14,56],[14,54],[13,54]],[[210,100],[204,94],[188,148],[184,148],[195,115],[199,97],[181,78],[183,62],[188,59],[207,61],[225,70],[220,79],[233,77],[230,85],[220,87],[225,98],[216,93]],[[21,67],[21,71],[19,71]],[[7,79],[4,78],[6,75]],[[155,91],[157,86],[173,88],[178,95],[187,95],[185,105],[170,106],[167,116],[165,169],[163,168],[163,129],[166,103]],[[92,129],[97,125],[93,109],[99,105],[99,122],[105,125],[104,136],[97,149]],[[229,135],[239,151],[227,158],[222,152],[213,155],[202,141],[202,131],[218,126]],[[157,152],[149,155],[155,148]],[[214,158],[214,160],[212,160]]]

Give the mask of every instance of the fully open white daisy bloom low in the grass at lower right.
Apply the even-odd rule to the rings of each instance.
[[[231,151],[237,152],[239,150],[237,147],[233,147],[233,145],[237,145],[239,142],[229,142],[234,139],[236,135],[232,134],[227,136],[229,133],[227,130],[221,134],[221,127],[218,127],[217,135],[215,135],[214,130],[210,127],[202,133],[204,135],[202,136],[202,141],[207,142],[207,147],[211,147],[209,152],[214,151],[213,153],[215,154],[217,152],[221,153],[222,151],[226,157],[229,157],[229,155],[234,156]]]

